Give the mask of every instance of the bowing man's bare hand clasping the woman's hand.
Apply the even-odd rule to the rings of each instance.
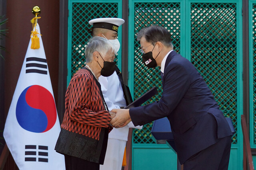
[[[115,128],[124,127],[131,121],[129,109],[112,109],[111,112],[116,112],[116,116],[110,121]]]

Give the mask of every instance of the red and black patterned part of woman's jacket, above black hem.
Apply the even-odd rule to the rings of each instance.
[[[110,120],[94,76],[87,69],[78,70],[66,92],[61,128],[98,140],[100,129],[108,128]]]

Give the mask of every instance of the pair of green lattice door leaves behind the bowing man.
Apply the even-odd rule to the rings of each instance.
[[[129,44],[134,44],[129,49],[129,77],[134,79],[129,86],[134,98],[162,86],[159,70],[143,65],[136,41],[142,27],[161,25],[170,31],[174,50],[194,64],[224,115],[232,118],[236,133],[229,169],[242,169],[242,0],[131,0],[129,8]],[[151,127],[148,123],[133,132],[133,170],[175,169],[176,155],[165,144],[154,143]]]

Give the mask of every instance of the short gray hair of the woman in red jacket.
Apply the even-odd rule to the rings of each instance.
[[[86,63],[92,62],[94,51],[98,51],[100,53],[100,55],[104,56],[104,55],[106,55],[106,53],[109,50],[114,51],[114,47],[113,47],[112,43],[110,43],[110,41],[108,41],[108,39],[98,37],[98,36],[93,37],[92,39],[90,39],[90,41],[88,42],[88,45],[85,49]]]

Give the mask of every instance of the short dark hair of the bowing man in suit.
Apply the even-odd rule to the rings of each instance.
[[[166,47],[172,47],[172,40],[170,33],[164,28],[158,25],[152,25],[150,27],[142,28],[137,35],[137,41],[144,37],[149,43],[156,43],[160,41]]]

